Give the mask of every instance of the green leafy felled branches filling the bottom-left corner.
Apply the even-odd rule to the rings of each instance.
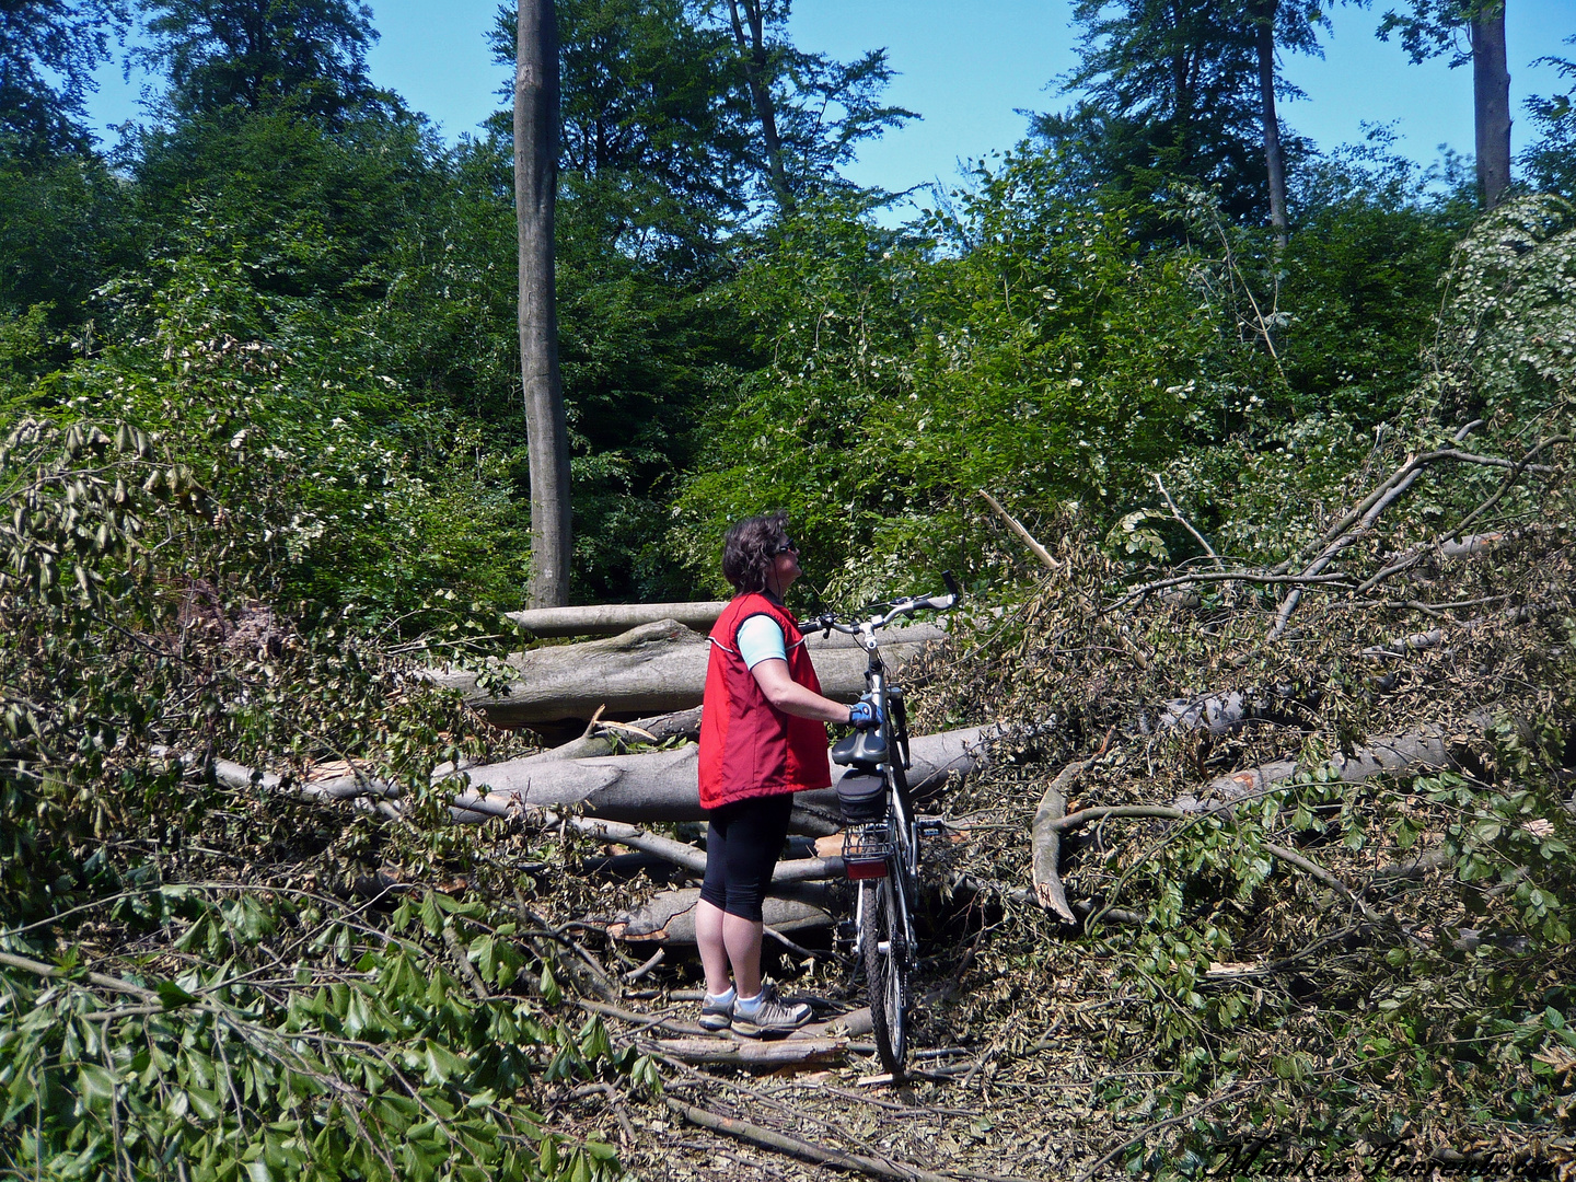
[[[164,953],[173,977],[84,979],[68,961],[50,980],[5,966],[8,1169],[156,1176],[180,1160],[194,1179],[618,1173],[610,1144],[555,1133],[522,1103],[539,1083],[613,1069],[599,1020],[575,1032],[539,1001],[478,999],[440,968],[433,938],[481,922],[479,905],[427,894],[385,930],[288,890],[164,886],[115,909],[180,931]],[[514,930],[487,925],[470,941],[489,988],[520,969]],[[284,960],[260,980],[249,966],[276,946]]]

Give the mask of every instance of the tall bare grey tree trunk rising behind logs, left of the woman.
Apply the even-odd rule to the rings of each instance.
[[[531,473],[531,607],[569,602],[569,426],[558,377],[553,202],[558,191],[558,14],[520,0],[514,71],[514,208],[520,235],[520,378]]]

